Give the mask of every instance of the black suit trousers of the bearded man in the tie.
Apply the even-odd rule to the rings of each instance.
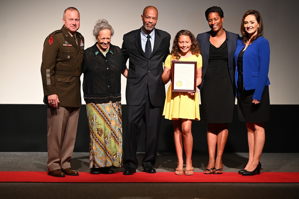
[[[128,122],[123,146],[123,165],[125,168],[132,167],[134,169],[138,166],[136,152],[142,126],[140,121],[143,119],[145,123],[145,154],[141,165],[143,167],[154,166],[157,159],[163,107],[154,107],[151,105],[147,89],[141,104],[138,106],[127,105],[127,109]]]

